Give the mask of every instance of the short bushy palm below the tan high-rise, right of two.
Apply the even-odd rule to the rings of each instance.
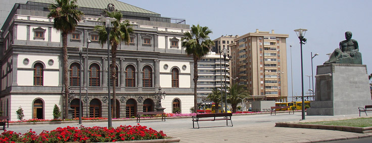
[[[227,96],[227,102],[231,104],[232,113],[237,112],[237,105],[241,103],[241,99],[244,99],[249,96],[249,91],[244,89],[244,85],[233,84],[230,87],[227,87],[229,91]],[[241,98],[241,99],[238,99]]]

